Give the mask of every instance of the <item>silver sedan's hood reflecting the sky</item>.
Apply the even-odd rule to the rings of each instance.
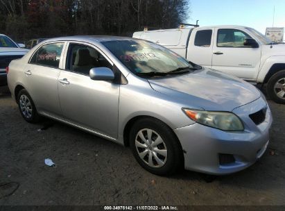
[[[157,92],[184,101],[188,107],[205,110],[232,111],[261,96],[250,83],[207,68],[148,82]]]

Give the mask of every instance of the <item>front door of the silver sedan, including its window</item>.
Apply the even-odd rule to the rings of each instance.
[[[89,78],[93,67],[112,69],[113,64],[94,46],[70,42],[65,68],[58,80],[62,113],[73,124],[116,138],[120,85],[93,81]]]

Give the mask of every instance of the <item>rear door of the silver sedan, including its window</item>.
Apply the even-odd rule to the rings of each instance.
[[[31,57],[24,70],[24,86],[31,95],[37,110],[60,117],[58,76],[65,42],[43,44]]]

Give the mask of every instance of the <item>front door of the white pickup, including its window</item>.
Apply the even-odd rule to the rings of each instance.
[[[236,28],[218,28],[213,47],[212,68],[239,78],[253,80],[257,77],[261,48],[243,45],[248,33]]]

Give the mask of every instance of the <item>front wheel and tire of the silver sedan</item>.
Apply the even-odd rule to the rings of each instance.
[[[151,144],[148,142],[149,135]],[[169,126],[158,119],[145,118],[135,122],[130,130],[130,148],[137,162],[150,173],[171,175],[184,166],[183,151],[178,138]]]

